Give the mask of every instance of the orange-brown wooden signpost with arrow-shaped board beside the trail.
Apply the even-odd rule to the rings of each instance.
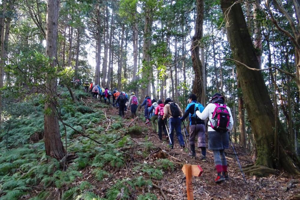
[[[203,173],[202,168],[199,165],[191,165],[191,164],[184,164],[182,167],[182,172],[186,178],[186,185],[187,185],[187,200],[193,200],[193,179],[192,176],[201,176]]]

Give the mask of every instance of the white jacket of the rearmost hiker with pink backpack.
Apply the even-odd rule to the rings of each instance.
[[[205,109],[202,112],[197,110],[196,115],[202,120],[205,120],[207,117],[209,118],[209,120],[211,120],[212,114],[216,107],[217,106],[214,103],[208,103],[208,105],[205,107]],[[233,127],[233,119],[232,119],[230,108],[228,106],[226,106],[226,109],[228,110],[229,115],[230,115],[228,129],[229,129],[229,131],[231,131],[231,129]],[[208,125],[210,125],[210,121],[208,121]],[[213,128],[211,128],[210,126],[208,126],[208,131],[215,131],[215,130]]]

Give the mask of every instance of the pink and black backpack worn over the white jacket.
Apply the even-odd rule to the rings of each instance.
[[[215,131],[221,133],[226,132],[229,126],[229,119],[230,119],[229,112],[225,104],[218,104],[218,103],[214,103],[214,104],[216,105],[216,108],[212,113],[211,120],[209,120],[210,126]]]

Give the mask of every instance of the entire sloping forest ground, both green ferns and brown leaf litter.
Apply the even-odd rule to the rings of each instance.
[[[204,171],[193,177],[194,199],[300,199],[300,180],[285,172],[266,178],[246,175],[245,183],[232,149],[226,150],[229,180],[215,184],[211,151],[207,162],[190,158],[176,137],[173,150],[166,139],[159,141],[143,114],[132,121],[128,111],[123,119],[116,108],[90,94],[76,90],[78,101],[72,104],[66,103],[67,90],[60,92],[62,118],[73,127],[66,130],[67,168],[45,155],[41,96],[18,102],[16,106],[27,106],[27,112],[13,120],[8,135],[5,126],[0,135],[0,200],[187,199],[184,163],[200,165]],[[65,130],[60,127],[64,141]],[[250,164],[244,149],[236,151],[242,165]]]

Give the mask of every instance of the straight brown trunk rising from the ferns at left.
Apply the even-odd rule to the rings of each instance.
[[[57,66],[57,23],[58,23],[59,0],[48,0],[46,16],[46,57],[53,58],[51,67]],[[46,95],[49,101],[45,103],[44,115],[44,141],[46,155],[60,160],[64,156],[64,147],[56,112],[57,101],[57,79],[55,77],[46,78]]]

